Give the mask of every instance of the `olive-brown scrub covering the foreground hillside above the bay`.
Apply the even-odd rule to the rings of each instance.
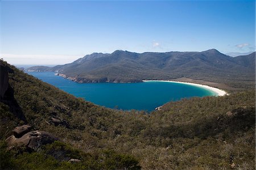
[[[255,169],[255,90],[183,99],[152,113],[120,111],[9,67],[27,123],[61,142],[36,152],[6,150],[4,140],[24,121],[1,103],[1,169]],[[52,118],[69,126],[56,125]],[[63,157],[53,154],[59,151]],[[65,156],[81,162],[69,163]]]

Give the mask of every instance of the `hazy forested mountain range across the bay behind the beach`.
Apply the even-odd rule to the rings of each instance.
[[[76,82],[141,82],[180,77],[208,81],[255,81],[255,52],[230,57],[209,49],[203,52],[144,52],[117,50],[92,53],[70,64],[32,67],[27,71],[54,71]]]

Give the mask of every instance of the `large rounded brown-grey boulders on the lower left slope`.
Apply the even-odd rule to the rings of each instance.
[[[27,132],[20,138],[16,138],[14,135],[9,136],[6,139],[9,150],[18,147],[26,147],[28,151],[36,151],[38,148],[45,144],[53,143],[55,140],[59,140],[56,136],[46,131],[31,131]]]

